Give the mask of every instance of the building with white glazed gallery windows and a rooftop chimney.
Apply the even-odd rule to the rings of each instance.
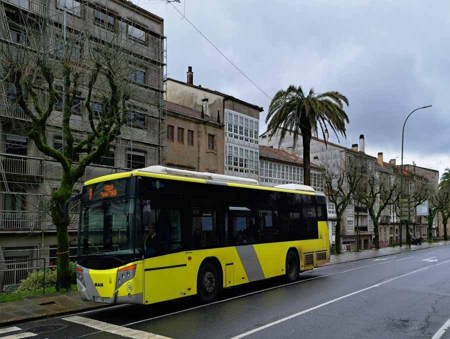
[[[262,107],[242,101],[231,95],[193,84],[192,67],[188,67],[186,82],[167,78],[167,101],[195,109],[210,119],[223,121],[221,135],[208,134],[210,147],[224,151],[224,166],[219,174],[259,179],[259,113]],[[221,150],[220,150],[221,152]],[[167,161],[176,161],[167,153]],[[218,158],[217,158],[217,161]],[[220,162],[218,162],[220,163]]]

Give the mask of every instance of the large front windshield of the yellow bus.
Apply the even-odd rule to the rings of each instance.
[[[115,265],[142,257],[142,232],[139,222],[135,222],[139,220],[135,214],[136,199],[133,198],[97,200],[82,206],[78,263],[89,266],[86,266],[91,261],[88,256],[92,259],[99,255],[109,257],[110,260],[106,260],[111,264],[115,261]],[[106,264],[103,260],[102,263]]]

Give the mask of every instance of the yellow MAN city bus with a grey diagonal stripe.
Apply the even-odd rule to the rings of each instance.
[[[296,184],[149,166],[86,181],[76,281],[83,300],[150,304],[329,261],[325,196]]]

